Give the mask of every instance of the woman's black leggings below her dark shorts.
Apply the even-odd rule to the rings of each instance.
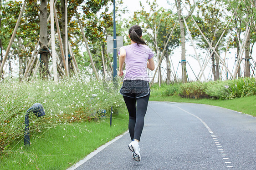
[[[148,99],[150,93],[144,97],[140,98],[131,98],[123,96],[126,107],[129,112],[129,133],[131,140],[137,139],[140,140],[140,136],[144,126],[144,117],[148,108]],[[136,101],[137,101],[137,110],[136,110]]]

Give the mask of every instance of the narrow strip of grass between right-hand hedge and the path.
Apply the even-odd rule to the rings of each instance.
[[[187,99],[181,98],[177,95],[174,96],[157,96],[157,92],[153,97],[150,97],[151,101],[173,101],[173,102],[185,102],[185,103],[200,103],[206,105],[215,105],[230,110],[236,110],[243,114],[256,116],[256,95],[250,97],[241,97],[232,100],[212,100],[212,99]]]

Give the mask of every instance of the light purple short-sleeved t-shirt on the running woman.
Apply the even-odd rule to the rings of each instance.
[[[147,61],[154,56],[153,51],[148,45],[138,45],[137,43],[121,47],[126,51],[125,70],[123,80],[146,80],[149,81],[147,74]],[[120,50],[118,51],[120,55]]]

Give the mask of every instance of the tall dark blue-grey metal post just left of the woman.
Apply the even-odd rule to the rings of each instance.
[[[115,0],[113,0],[113,4],[114,4],[114,11],[113,11],[113,26],[114,26],[114,30],[113,30],[113,41],[114,41],[114,51],[113,51],[113,81],[114,81],[114,85],[117,84],[117,35],[116,35],[116,6],[115,6]]]

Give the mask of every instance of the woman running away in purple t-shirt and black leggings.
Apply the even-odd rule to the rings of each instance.
[[[154,53],[141,37],[141,28],[138,25],[133,25],[129,29],[131,45],[121,47],[118,52],[120,55],[118,76],[123,76],[124,63],[126,70],[120,93],[123,95],[129,112],[128,129],[132,142],[128,148],[133,152],[133,159],[136,161],[141,160],[138,142],[143,130],[150,95],[147,68],[154,70],[155,67]]]

